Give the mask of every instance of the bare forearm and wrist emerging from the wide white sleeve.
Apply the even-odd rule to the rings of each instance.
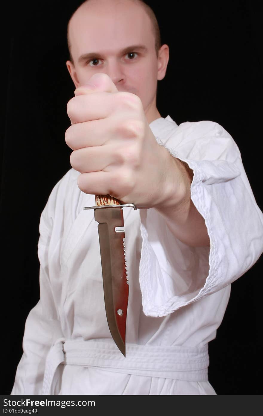
[[[192,246],[209,246],[209,236],[204,218],[191,200],[193,171],[187,163],[169,154],[171,176],[166,182],[166,200],[155,209],[165,218],[172,233],[183,243]]]

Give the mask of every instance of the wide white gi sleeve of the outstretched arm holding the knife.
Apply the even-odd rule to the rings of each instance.
[[[194,171],[191,198],[210,248],[177,240],[154,208],[140,210],[143,311],[161,317],[231,284],[263,251],[263,215],[232,137],[211,121],[183,123],[166,147]]]

